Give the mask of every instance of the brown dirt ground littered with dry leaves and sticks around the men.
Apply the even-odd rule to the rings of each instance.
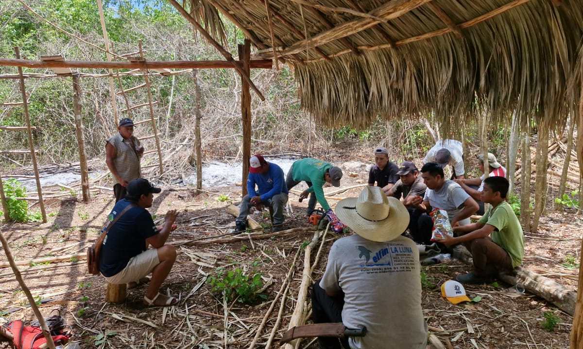
[[[365,174],[360,171],[357,177],[346,176],[343,187],[366,182]],[[551,185],[550,190],[554,188]],[[156,195],[150,212],[154,220],[162,218],[170,208],[182,212],[177,219],[178,229],[171,234],[170,241],[222,234],[233,226],[234,221],[232,216],[225,213],[224,207],[229,201],[240,201],[241,188],[222,187],[213,188],[212,191],[216,193],[196,195],[187,190],[164,190]],[[326,188],[326,191],[332,191],[332,188]],[[355,188],[339,196],[356,196],[359,191],[359,188]],[[220,194],[228,195],[229,201],[219,201],[222,200]],[[300,204],[297,199],[297,195],[290,194],[293,214],[286,220],[286,225],[290,228],[309,228],[304,217],[305,202]],[[20,266],[20,270],[24,272],[24,280],[33,295],[43,302],[41,312],[48,316],[59,310],[70,326],[72,340],[78,341],[82,348],[223,348],[225,338],[229,348],[248,347],[278,293],[298,248],[304,241],[310,241],[314,233],[306,230],[254,240],[252,244],[245,239],[236,243],[181,245],[178,247],[177,263],[163,284],[164,292],[169,291],[180,298],[177,306],[167,309],[146,308],[142,305],[144,286],[129,290],[124,303],[108,304],[104,302],[106,284],[103,277],[87,274],[85,259],[77,261],[74,255],[85,254],[86,246],[98,236],[113,204],[113,196],[108,193],[94,195],[89,204],[73,199],[51,199],[47,201],[48,223],[1,226],[16,261],[73,255],[57,264],[26,263]],[[259,213],[254,217],[269,224],[268,219]],[[549,210],[541,219],[538,233],[525,234],[524,266],[570,289],[576,289],[576,263],[583,233],[581,220],[581,216],[575,215],[573,211],[558,213]],[[331,233],[326,236],[321,258],[312,275],[314,279],[322,275],[327,252],[339,237]],[[312,261],[314,256],[315,253],[312,254]],[[0,259],[0,263],[5,261],[4,257]],[[220,266],[259,272],[266,280],[272,279],[273,283],[265,290],[268,298],[256,305],[234,302],[227,305],[227,311],[223,307],[222,297],[210,293],[210,287],[205,284],[206,277]],[[282,323],[275,334],[276,340],[287,328],[296,304],[302,269],[303,254],[300,254],[283,307]],[[468,287],[470,298],[482,297],[471,304],[452,305],[445,301],[440,294],[441,283],[469,269],[468,265],[459,261],[422,267],[426,275],[426,282],[423,283],[424,315],[430,332],[436,334],[448,347],[568,347],[573,318],[541,298],[517,293],[514,285],[498,282]],[[33,312],[27,304],[10,268],[0,268],[0,322],[33,320]],[[275,325],[279,305],[278,301],[257,347],[265,346]],[[553,332],[547,332],[540,325],[545,312],[560,318]],[[98,339],[103,336],[107,340],[100,344]],[[317,344],[304,340],[300,348],[308,344],[317,347]]]

